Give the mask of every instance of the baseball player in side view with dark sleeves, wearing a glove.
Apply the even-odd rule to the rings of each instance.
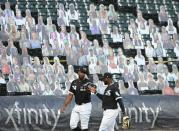
[[[90,88],[90,91],[96,93],[102,100],[102,108],[104,112],[99,131],[114,131],[116,117],[119,114],[117,103],[119,103],[123,115],[125,115],[125,108],[118,84],[114,83],[112,80],[112,74],[105,73],[103,81],[104,84],[107,85],[103,95],[97,93],[96,88]]]

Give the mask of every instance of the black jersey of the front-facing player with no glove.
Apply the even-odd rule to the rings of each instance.
[[[87,90],[92,83],[88,79],[76,79],[71,83],[69,93],[74,94],[75,102],[78,105],[91,102],[91,92]]]

